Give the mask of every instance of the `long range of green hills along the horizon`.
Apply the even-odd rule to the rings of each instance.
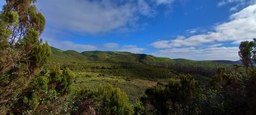
[[[196,60],[188,60],[183,58],[170,59],[155,57],[146,54],[134,54],[131,52],[116,52],[116,51],[85,51],[76,52],[74,50],[63,51],[55,47],[52,49],[52,58],[58,61],[107,61],[107,62],[142,62],[142,61],[155,61],[155,62],[199,62]],[[223,64],[241,64],[241,60],[204,60],[200,62],[212,62]]]

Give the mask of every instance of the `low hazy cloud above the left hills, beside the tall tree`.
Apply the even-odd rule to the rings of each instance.
[[[75,50],[77,52],[96,50],[97,46],[90,44],[79,44],[71,41],[61,41],[55,38],[44,37],[44,40],[49,43],[50,46],[61,50]]]

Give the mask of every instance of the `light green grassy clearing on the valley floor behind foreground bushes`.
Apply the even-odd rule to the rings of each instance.
[[[141,79],[126,79],[121,76],[110,76],[94,72],[75,72],[76,79],[74,86],[83,88],[85,86],[97,89],[100,85],[111,83],[113,86],[119,87],[124,91],[131,103],[144,95],[148,86],[154,86],[157,82]]]

